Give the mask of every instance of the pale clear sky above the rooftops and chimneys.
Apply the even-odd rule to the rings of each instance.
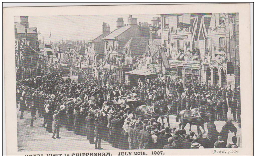
[[[110,25],[110,31],[116,29],[117,18],[122,17],[124,24],[127,24],[129,15],[87,15],[87,16],[29,16],[29,27],[37,27],[41,35],[38,39],[44,42],[58,42],[66,39],[76,41],[85,39],[86,41],[94,39],[102,33],[102,23]],[[132,15],[137,18],[137,22],[152,23],[153,17],[159,15]],[[20,23],[20,17],[14,17],[14,22]],[[51,34],[51,38],[49,38]]]

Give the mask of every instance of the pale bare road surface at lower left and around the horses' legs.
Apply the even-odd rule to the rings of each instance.
[[[39,118],[37,115],[37,120],[34,121],[35,127],[30,127],[30,112],[25,111],[23,120],[19,119],[20,112],[17,108],[18,118],[17,118],[17,129],[18,129],[18,151],[66,151],[66,150],[94,150],[94,144],[90,144],[86,136],[80,136],[73,133],[73,131],[67,131],[66,128],[60,128],[61,139],[52,139],[52,133],[48,133],[45,128],[41,127],[43,123],[43,118]],[[170,115],[170,127],[178,127],[179,122],[176,122],[176,116]],[[231,119],[230,111],[228,113],[228,119]],[[164,121],[166,123],[166,119]],[[217,130],[220,132],[222,126],[225,124],[223,121],[215,121]],[[238,123],[233,122],[233,124],[238,128]],[[167,124],[165,124],[167,125]],[[197,132],[195,125],[192,125],[191,129]],[[189,124],[185,127],[188,132]],[[207,134],[207,128],[205,124],[205,130]],[[241,129],[238,128],[237,136],[240,135],[240,146],[241,141]],[[231,143],[233,133],[229,134],[228,143]],[[106,141],[101,141],[101,147],[104,150],[114,150],[112,145]]]

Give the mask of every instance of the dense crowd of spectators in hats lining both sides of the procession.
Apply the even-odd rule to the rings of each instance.
[[[233,120],[241,123],[240,92],[232,91],[230,86],[220,88],[198,82],[184,89],[181,82],[169,78],[165,82],[139,79],[137,86],[131,88],[129,82],[106,86],[89,75],[77,84],[69,77],[65,80],[63,75],[49,72],[19,80],[16,88],[19,119],[24,119],[24,111],[30,111],[30,126],[34,127],[38,114],[44,118],[42,127],[53,133],[53,139],[59,139],[60,127],[66,127],[86,136],[95,149],[103,149],[101,140],[120,149],[238,147],[236,136],[229,144],[221,136],[205,138],[201,133],[166,126],[156,118],[136,116],[134,108],[125,105],[129,100],[146,101],[151,106],[157,100],[165,100],[170,114],[210,106],[215,108],[210,118],[213,124],[216,119],[227,121],[230,107]],[[116,107],[112,106],[113,101]]]

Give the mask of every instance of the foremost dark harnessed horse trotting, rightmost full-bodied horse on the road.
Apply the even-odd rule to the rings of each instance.
[[[187,123],[189,123],[189,131],[191,131],[191,125],[196,125],[197,126],[197,133],[199,134],[200,132],[202,134],[205,133],[205,128],[204,128],[204,123],[209,122],[209,114],[208,113],[201,113],[200,116],[194,117],[193,114],[195,115],[198,112],[198,108],[194,108],[189,110],[182,110],[177,113],[176,116],[176,122],[179,122],[179,128],[184,129]],[[199,112],[198,112],[199,113]],[[200,130],[200,126],[203,129],[203,132]]]

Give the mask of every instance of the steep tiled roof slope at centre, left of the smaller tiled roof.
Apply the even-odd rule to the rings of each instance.
[[[132,37],[125,45],[129,45],[132,57],[148,52],[148,37]]]

